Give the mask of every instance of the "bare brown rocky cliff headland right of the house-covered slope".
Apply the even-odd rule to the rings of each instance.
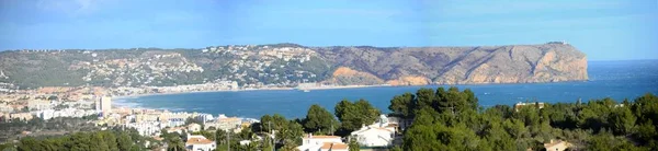
[[[587,57],[568,44],[488,47],[328,47],[336,65],[394,85],[534,83],[588,80]]]

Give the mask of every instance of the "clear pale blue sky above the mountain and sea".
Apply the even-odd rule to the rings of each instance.
[[[658,59],[657,0],[0,0],[0,49],[231,44],[476,46],[567,40]]]

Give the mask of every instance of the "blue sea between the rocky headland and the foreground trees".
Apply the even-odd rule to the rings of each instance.
[[[535,100],[556,103],[576,102],[578,98],[586,102],[612,97],[621,102],[624,98],[634,100],[645,93],[658,94],[658,60],[590,61],[588,73],[590,80],[587,82],[456,86],[461,90],[473,90],[484,107]],[[450,85],[334,89],[310,92],[296,90],[203,92],[123,97],[114,102],[116,105],[173,112],[226,114],[250,118],[279,113],[288,118],[297,118],[305,116],[313,104],[319,104],[333,112],[333,106],[343,98],[350,101],[365,98],[386,113],[389,112],[387,107],[394,95],[405,92],[415,93],[420,88],[438,86]]]

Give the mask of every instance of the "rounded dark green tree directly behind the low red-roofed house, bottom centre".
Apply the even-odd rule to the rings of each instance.
[[[330,135],[333,133],[334,127],[338,127],[338,121],[329,111],[317,104],[308,108],[308,113],[304,119],[304,128],[307,132]]]

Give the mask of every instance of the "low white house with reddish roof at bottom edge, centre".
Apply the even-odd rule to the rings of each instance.
[[[347,151],[349,147],[338,136],[313,136],[308,133],[302,138],[299,151]]]

